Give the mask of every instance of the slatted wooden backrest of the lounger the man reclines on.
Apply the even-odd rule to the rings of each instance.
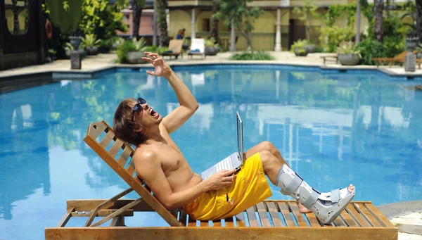
[[[106,132],[106,134],[102,137],[101,134],[103,132]],[[124,141],[117,139],[113,129],[105,121],[91,123],[88,127],[87,136],[84,138],[84,141],[170,226],[185,226],[177,220],[174,213],[170,213],[167,208],[162,206],[155,196],[151,195],[151,190],[143,187],[143,181],[134,175],[135,165],[132,158],[130,158],[134,154],[134,149]],[[112,146],[107,150],[110,144],[112,144]],[[120,149],[122,149],[122,153],[116,160],[117,153],[119,153]],[[126,164],[127,160],[130,161],[129,164]],[[127,168],[124,168],[125,165],[127,165]]]

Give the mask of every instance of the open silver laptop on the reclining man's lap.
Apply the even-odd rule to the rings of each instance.
[[[245,163],[245,160],[243,159],[243,122],[241,115],[236,111],[236,132],[237,132],[237,141],[238,141],[238,151],[232,153],[227,158],[224,158],[216,165],[213,165],[211,168],[208,168],[207,170],[203,171],[200,175],[202,179],[207,179],[208,177],[211,177],[216,172],[219,172],[221,170],[233,170],[236,169],[236,172],[238,170],[241,170],[241,167],[243,163]]]

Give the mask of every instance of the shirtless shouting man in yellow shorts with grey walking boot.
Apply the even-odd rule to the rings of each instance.
[[[245,165],[217,172],[205,180],[194,173],[170,137],[198,109],[188,87],[179,80],[157,53],[145,53],[152,63],[149,75],[165,77],[172,85],[180,106],[165,118],[144,99],[124,99],[115,111],[113,127],[117,137],[136,146],[136,172],[167,209],[183,207],[195,220],[231,217],[271,196],[267,175],[281,193],[299,202],[302,213],[312,211],[330,224],[354,196],[354,186],[320,193],[291,170],[279,150],[264,141],[245,152]]]

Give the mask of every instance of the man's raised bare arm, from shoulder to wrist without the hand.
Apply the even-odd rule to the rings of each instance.
[[[171,113],[162,119],[162,124],[165,125],[170,134],[181,127],[186,120],[191,118],[199,106],[191,91],[173,71],[171,71],[168,75],[165,75],[165,78],[172,85],[174,92],[176,93],[177,100],[179,100],[180,103],[180,106],[172,110]]]

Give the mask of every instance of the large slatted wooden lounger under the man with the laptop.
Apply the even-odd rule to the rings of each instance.
[[[398,230],[369,201],[352,201],[331,225],[321,225],[313,213],[301,214],[295,201],[269,200],[226,220],[194,221],[183,210],[167,210],[136,177],[134,150],[106,122],[89,125],[84,141],[124,179],[130,188],[110,199],[68,200],[56,227],[46,227],[45,239],[371,239],[397,240]],[[107,150],[108,149],[108,150]],[[141,198],[119,199],[131,191]],[[170,227],[125,227],[135,211],[155,211]],[[70,217],[89,217],[84,227],[65,227]],[[93,224],[94,217],[103,217]],[[110,221],[110,226],[100,227]]]

